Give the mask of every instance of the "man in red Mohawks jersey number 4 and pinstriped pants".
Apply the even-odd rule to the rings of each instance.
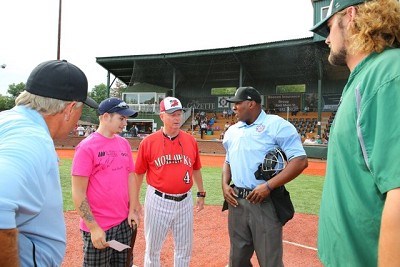
[[[196,140],[180,130],[182,104],[175,97],[160,103],[161,130],[140,143],[135,164],[134,209],[140,212],[139,191],[146,173],[144,266],[160,266],[162,244],[169,230],[174,238],[174,266],[189,266],[193,243],[193,200],[197,185],[197,211],[204,208],[205,191]]]

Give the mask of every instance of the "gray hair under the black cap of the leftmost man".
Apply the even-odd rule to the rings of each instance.
[[[54,98],[48,98],[44,96],[38,96],[31,94],[27,91],[23,91],[17,99],[15,99],[15,105],[26,106],[31,109],[37,110],[44,115],[54,115],[64,110],[64,108],[71,103],[71,101],[64,101]],[[82,102],[77,102],[75,108],[82,106]]]

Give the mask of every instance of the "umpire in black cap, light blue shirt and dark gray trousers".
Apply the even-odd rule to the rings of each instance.
[[[228,99],[238,122],[227,130],[222,191],[228,203],[229,266],[252,266],[256,252],[263,266],[283,266],[282,223],[270,193],[296,178],[307,166],[307,156],[296,128],[277,115],[267,115],[261,95],[253,87],[239,87]],[[272,179],[258,180],[255,172],[268,151],[281,148],[287,165]],[[234,186],[230,186],[233,182]]]

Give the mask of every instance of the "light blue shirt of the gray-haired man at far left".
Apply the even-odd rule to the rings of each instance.
[[[66,230],[58,156],[43,117],[0,112],[0,229],[18,228],[21,266],[60,266]]]

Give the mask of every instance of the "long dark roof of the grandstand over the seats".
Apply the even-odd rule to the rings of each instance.
[[[343,80],[345,67],[327,62],[329,49],[312,37],[176,53],[97,57],[96,62],[128,86],[146,82],[176,89],[238,87],[242,84],[290,84],[318,79]],[[242,67],[242,69],[241,69]],[[242,76],[241,76],[242,70]]]

